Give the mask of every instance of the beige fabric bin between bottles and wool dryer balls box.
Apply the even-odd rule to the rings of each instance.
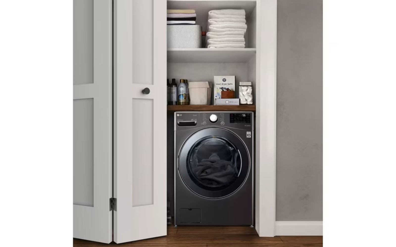
[[[190,105],[210,105],[212,87],[208,81],[189,81]]]

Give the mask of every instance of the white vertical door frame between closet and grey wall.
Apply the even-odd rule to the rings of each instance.
[[[277,0],[257,0],[255,228],[275,236]]]

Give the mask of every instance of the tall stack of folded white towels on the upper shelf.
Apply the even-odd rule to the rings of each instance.
[[[245,48],[246,28],[244,9],[211,10],[206,29],[206,47]]]

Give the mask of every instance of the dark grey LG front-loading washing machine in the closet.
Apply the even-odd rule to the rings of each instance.
[[[253,226],[253,112],[175,112],[175,225]]]

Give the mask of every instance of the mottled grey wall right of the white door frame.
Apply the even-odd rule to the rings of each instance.
[[[278,0],[277,221],[322,221],[322,57],[322,0]]]

